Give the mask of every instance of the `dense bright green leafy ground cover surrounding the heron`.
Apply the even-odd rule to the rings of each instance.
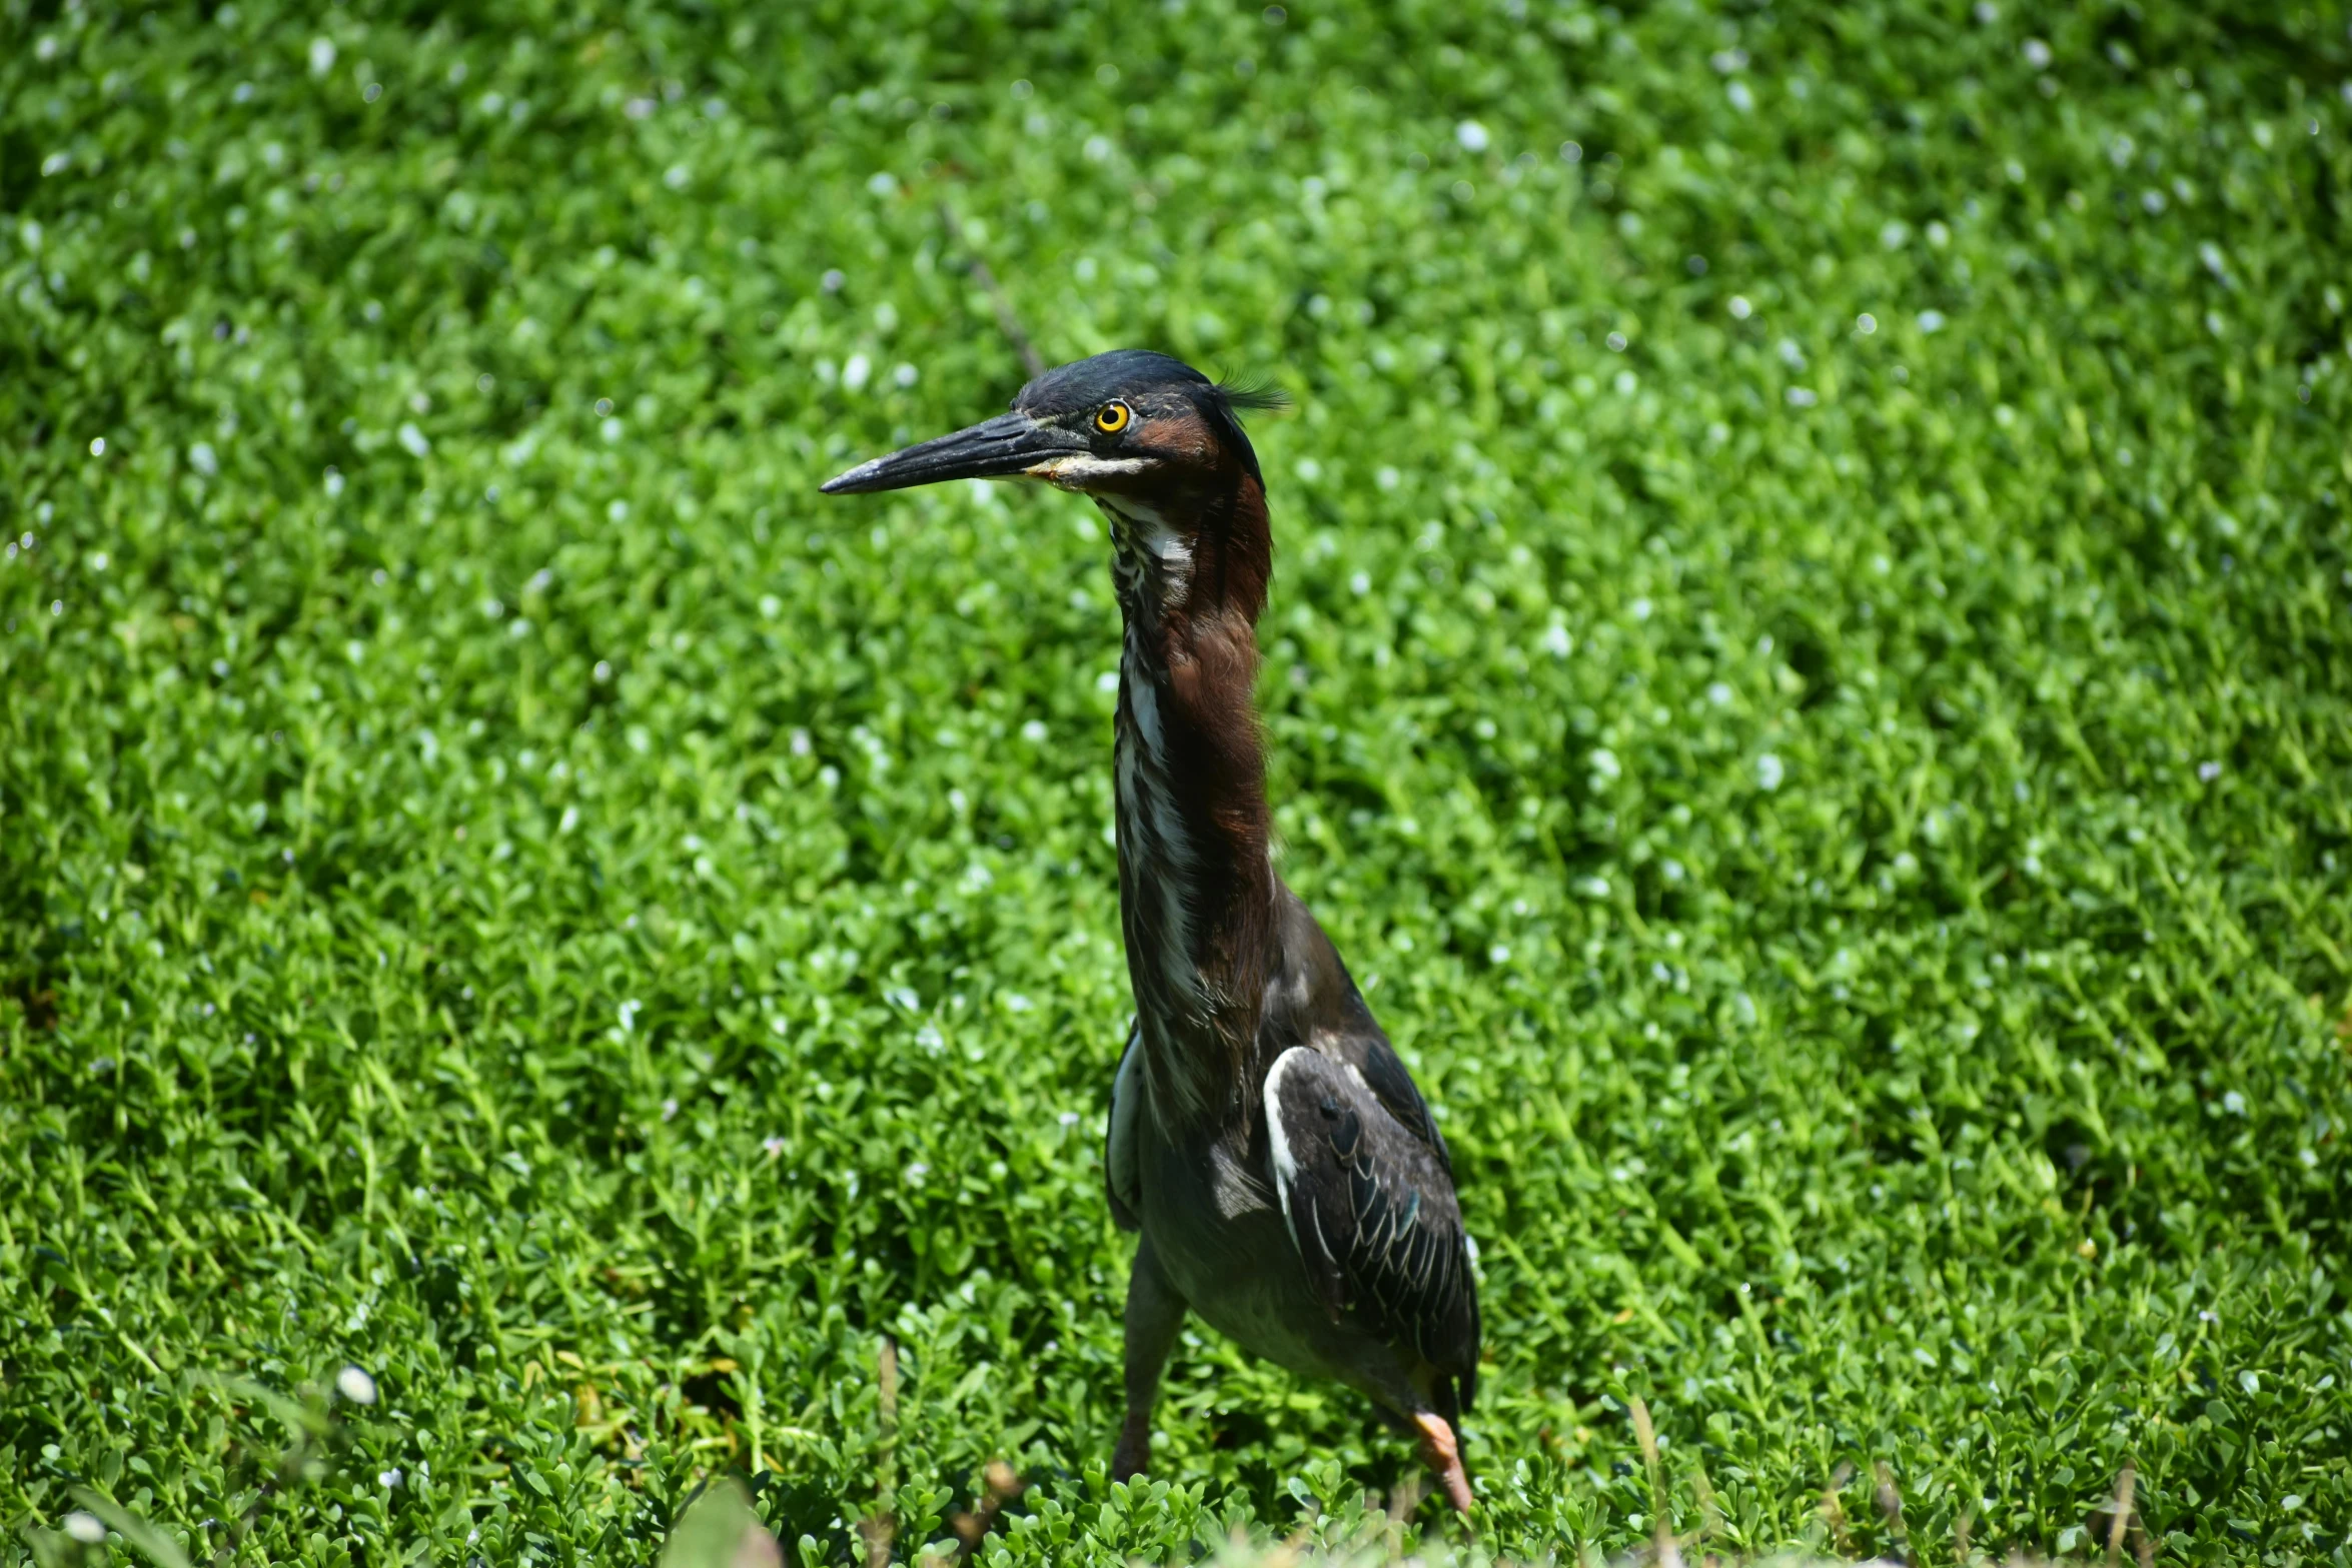
[[[2352,1561],[2347,14],[1804,9],[5,0],[0,1563],[1406,1472],[1202,1333],[1103,1479],[1105,541],[814,494],[1018,386],[974,256],[1298,400],[1282,867],[1456,1150],[1482,1547],[1646,1542],[1642,1396],[1731,1552],[2129,1458]]]

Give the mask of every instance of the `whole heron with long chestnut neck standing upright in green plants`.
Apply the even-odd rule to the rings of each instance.
[[[1110,1218],[1141,1232],[1112,1476],[1150,1469],[1160,1378],[1192,1312],[1256,1356],[1364,1394],[1468,1514],[1479,1307],[1454,1159],[1270,853],[1254,691],[1272,534],[1242,414],[1279,402],[1122,348],[821,489],[1033,480],[1091,498],[1110,524],[1112,825],[1136,1011],[1103,1173]]]

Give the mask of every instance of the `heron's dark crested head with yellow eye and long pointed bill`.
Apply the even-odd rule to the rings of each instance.
[[[1011,414],[858,463],[823,484],[828,496],[908,489],[941,480],[1044,480],[1096,496],[1150,496],[1258,477],[1240,409],[1279,395],[1209,381],[1183,360],[1115,348],[1044,371]]]

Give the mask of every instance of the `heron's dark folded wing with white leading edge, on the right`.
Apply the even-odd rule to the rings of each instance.
[[[1348,1063],[1312,1046],[1284,1051],[1265,1072],[1275,1192],[1324,1309],[1371,1316],[1395,1345],[1458,1378],[1468,1406],[1479,1319],[1454,1175],[1444,1145],[1416,1135],[1385,1100]]]

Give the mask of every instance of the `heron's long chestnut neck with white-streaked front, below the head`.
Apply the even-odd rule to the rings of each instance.
[[[1143,1063],[1167,1112],[1216,1114],[1247,1100],[1275,926],[1256,715],[1265,491],[1244,473],[1190,515],[1103,510],[1127,621],[1115,795]]]

